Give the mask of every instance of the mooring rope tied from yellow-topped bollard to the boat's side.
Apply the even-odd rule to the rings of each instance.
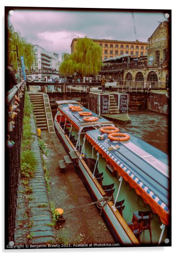
[[[74,207],[74,208],[71,208],[71,209],[64,209],[64,213],[63,213],[63,216],[66,215],[66,214],[69,214],[71,212],[75,212],[76,210],[79,210],[79,209],[83,209],[83,208],[86,208],[90,205],[93,205],[93,204],[96,204],[96,206],[98,207],[98,209],[101,209],[101,212],[102,212],[102,209],[105,207],[105,205],[110,202],[112,200],[112,196],[111,197],[103,197],[101,199],[98,199],[98,201],[96,202],[93,202],[93,203],[90,203],[90,204],[84,204],[84,205],[81,205],[81,206],[77,206],[77,207]],[[101,204],[101,202],[105,202],[103,205]],[[66,212],[66,211],[69,211],[69,212]],[[100,212],[100,215],[101,215],[101,212]]]

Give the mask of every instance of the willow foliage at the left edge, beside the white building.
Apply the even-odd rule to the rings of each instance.
[[[27,41],[26,37],[22,37],[20,32],[16,32],[14,27],[10,25],[8,27],[8,52],[7,52],[7,59],[9,63],[12,63],[14,69],[17,69],[17,52],[16,45],[18,46],[18,53],[19,53],[19,61],[20,56],[24,56],[25,66],[27,69],[30,69],[35,62],[35,52],[34,47],[31,43]]]

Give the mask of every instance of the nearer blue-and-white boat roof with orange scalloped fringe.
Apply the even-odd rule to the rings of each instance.
[[[144,202],[159,214],[162,223],[169,224],[171,170],[168,156],[145,141],[127,134],[130,135],[128,141],[111,141],[107,135],[104,135],[105,140],[98,140],[100,131],[97,129],[88,131],[86,138],[141,195]],[[110,145],[119,145],[120,148],[109,150]]]

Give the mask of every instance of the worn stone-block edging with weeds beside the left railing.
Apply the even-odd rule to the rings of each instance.
[[[32,135],[34,138],[32,150],[35,152],[37,165],[34,178],[29,180],[29,187],[32,187],[32,193],[29,194],[31,200],[27,200],[27,195],[23,193],[25,187],[22,180],[20,182],[15,244],[56,243],[54,229],[49,226],[53,221],[33,116],[31,116],[30,124],[32,133],[34,133]]]

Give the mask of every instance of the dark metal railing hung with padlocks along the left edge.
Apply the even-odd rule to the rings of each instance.
[[[23,89],[22,89],[23,88]],[[15,96],[20,95],[20,91],[24,90],[22,98],[18,103],[18,112],[14,121],[14,128],[9,128],[10,106],[15,104]],[[25,81],[14,86],[7,92],[5,98],[5,216],[6,216],[6,236],[5,240],[14,241],[16,214],[17,214],[17,192],[20,179],[20,148],[22,140],[22,124],[24,116],[24,98],[25,98]],[[8,147],[7,141],[12,141],[14,145]]]

